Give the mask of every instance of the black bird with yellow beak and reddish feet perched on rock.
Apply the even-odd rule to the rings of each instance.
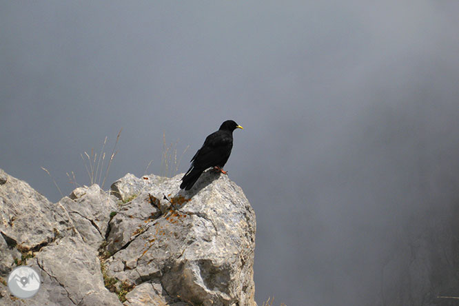
[[[221,124],[218,131],[207,136],[201,149],[194,154],[190,169],[182,178],[181,189],[190,190],[198,181],[201,173],[208,167],[214,167],[215,170],[223,174],[227,173],[222,168],[230,158],[233,147],[233,131],[237,128],[243,129],[236,122],[227,120]]]

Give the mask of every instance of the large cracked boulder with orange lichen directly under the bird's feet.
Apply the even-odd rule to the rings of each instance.
[[[129,175],[114,183],[129,186],[117,187],[121,198],[140,192],[110,222],[108,245],[114,255],[105,263],[110,276],[138,286],[126,296],[128,303],[137,305],[130,296],[142,295],[143,284],[156,283],[163,293],[149,296],[162,296],[167,303],[256,305],[254,211],[227,176],[202,176],[190,192],[179,190],[181,175],[137,180]],[[174,209],[158,216],[161,201]]]

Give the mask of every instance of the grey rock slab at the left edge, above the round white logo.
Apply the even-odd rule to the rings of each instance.
[[[0,169],[0,233],[9,245],[37,249],[70,234],[68,214],[30,185]]]

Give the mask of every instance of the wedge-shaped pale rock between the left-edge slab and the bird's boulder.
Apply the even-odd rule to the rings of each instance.
[[[70,197],[65,196],[59,204],[67,210],[83,241],[99,248],[108,230],[110,213],[117,210],[116,197],[94,184],[76,188]]]

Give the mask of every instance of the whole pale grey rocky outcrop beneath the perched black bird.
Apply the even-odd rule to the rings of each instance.
[[[42,278],[23,300],[0,279],[0,305],[256,306],[247,198],[227,176],[188,192],[180,178],[127,174],[53,204],[0,170],[0,276],[23,264]]]

